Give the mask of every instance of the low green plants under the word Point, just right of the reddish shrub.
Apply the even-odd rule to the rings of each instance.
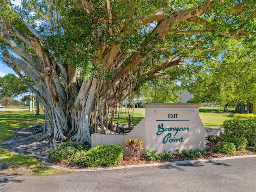
[[[174,158],[174,156],[172,155],[172,151],[166,152],[164,150],[164,152],[162,153],[157,153],[157,151],[154,149],[152,151],[146,150],[142,153],[142,157],[147,158],[150,161],[157,161],[160,159],[171,160]]]

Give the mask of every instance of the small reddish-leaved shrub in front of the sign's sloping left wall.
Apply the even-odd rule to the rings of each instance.
[[[125,140],[125,146],[126,149],[129,151],[129,155],[132,153],[132,155],[135,157],[140,157],[140,151],[143,149],[142,145],[144,143],[143,140],[139,139],[126,139]]]

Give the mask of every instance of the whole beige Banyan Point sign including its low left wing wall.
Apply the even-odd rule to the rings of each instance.
[[[146,104],[146,117],[127,135],[92,134],[92,147],[98,144],[120,144],[128,150],[125,139],[144,140],[143,151],[205,149],[206,130],[197,104]]]

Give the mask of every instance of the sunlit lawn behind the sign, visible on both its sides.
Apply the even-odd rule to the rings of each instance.
[[[232,108],[231,111],[233,110],[234,109]],[[128,110],[128,108],[120,108],[120,111],[118,112],[117,109],[114,114],[114,123],[118,122],[119,124],[128,124],[128,117],[130,114],[132,118],[132,124],[136,125],[146,116],[146,108],[130,108],[130,110]],[[204,126],[222,126],[224,120],[233,117],[233,113],[223,113],[223,108],[200,107],[199,116]]]

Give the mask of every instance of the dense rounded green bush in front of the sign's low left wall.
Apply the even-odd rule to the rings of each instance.
[[[90,167],[115,166],[123,159],[124,148],[121,145],[97,145],[90,148],[84,161]]]

